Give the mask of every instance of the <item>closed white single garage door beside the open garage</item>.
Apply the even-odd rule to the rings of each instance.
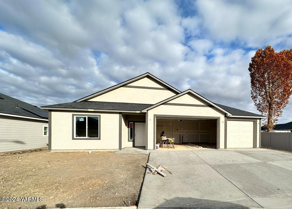
[[[227,120],[227,148],[253,147],[253,121]]]

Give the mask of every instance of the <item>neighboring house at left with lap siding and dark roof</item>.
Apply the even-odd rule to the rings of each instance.
[[[48,111],[0,93],[0,152],[48,147]]]

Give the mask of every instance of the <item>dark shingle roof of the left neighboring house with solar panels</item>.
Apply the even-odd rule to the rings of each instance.
[[[16,107],[18,104],[18,108]],[[7,96],[0,93],[0,113],[23,116],[23,117],[33,117],[39,119],[48,119],[48,111],[42,110],[37,106],[33,106],[24,101],[20,101],[13,97]]]

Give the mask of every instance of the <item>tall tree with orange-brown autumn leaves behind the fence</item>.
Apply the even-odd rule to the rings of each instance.
[[[251,58],[248,71],[251,98],[258,111],[267,116],[267,131],[273,131],[292,94],[292,49],[281,52],[270,46],[259,49]]]

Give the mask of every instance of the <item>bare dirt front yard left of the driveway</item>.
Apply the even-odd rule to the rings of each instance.
[[[148,154],[49,152],[0,156],[0,208],[73,208],[137,205]],[[37,197],[31,202],[20,197]]]

